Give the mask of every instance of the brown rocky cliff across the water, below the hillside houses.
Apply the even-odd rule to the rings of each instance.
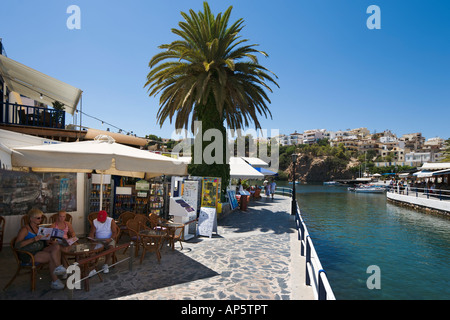
[[[349,169],[355,164],[355,161],[349,162],[336,157],[300,154],[297,158],[295,173],[296,178],[304,182],[352,179],[354,173]],[[286,170],[289,176],[291,176],[291,168]]]

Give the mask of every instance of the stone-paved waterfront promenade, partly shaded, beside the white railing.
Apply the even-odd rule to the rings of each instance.
[[[161,263],[154,253],[139,258],[129,271],[128,261],[90,280],[90,291],[51,290],[48,270],[40,272],[36,291],[29,275],[16,278],[0,299],[119,299],[119,300],[312,300],[304,285],[304,257],[300,257],[290,199],[251,201],[246,212],[236,210],[219,220],[218,234],[196,237],[176,250],[162,249]],[[122,237],[126,241],[127,236]],[[119,260],[128,256],[122,252]],[[0,288],[15,272],[7,247],[0,252]]]

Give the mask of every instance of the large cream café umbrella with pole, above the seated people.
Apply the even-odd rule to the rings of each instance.
[[[109,136],[93,141],[45,144],[13,149],[14,167],[36,172],[93,172],[141,177],[187,175],[185,162],[116,143]],[[102,179],[103,180],[103,179]],[[101,182],[102,183],[102,182]],[[100,210],[103,188],[100,188]]]

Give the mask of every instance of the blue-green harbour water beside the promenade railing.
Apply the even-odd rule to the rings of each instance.
[[[296,192],[336,299],[450,299],[450,218],[343,186]],[[379,268],[379,289],[367,285],[370,266]]]

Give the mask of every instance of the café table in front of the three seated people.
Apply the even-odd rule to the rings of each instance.
[[[97,253],[100,253],[104,249],[104,245],[100,242],[92,242],[92,241],[83,242],[83,241],[87,241],[87,240],[82,239],[82,240],[80,240],[80,242],[82,242],[82,243],[76,243],[69,247],[65,247],[64,250],[61,250],[62,258],[64,259],[64,261],[67,264],[69,264],[67,262],[68,257],[74,257],[75,261],[78,262],[82,259],[92,257],[92,256],[96,255]],[[91,272],[92,270],[95,269],[97,262],[98,262],[98,259],[95,259],[91,262],[83,264],[81,266],[81,277],[82,278],[87,277],[89,275],[89,272]],[[100,274],[97,274],[97,275],[99,276],[100,280],[103,281]],[[84,286],[85,286],[85,290],[89,291],[89,280],[88,279],[84,280]]]

